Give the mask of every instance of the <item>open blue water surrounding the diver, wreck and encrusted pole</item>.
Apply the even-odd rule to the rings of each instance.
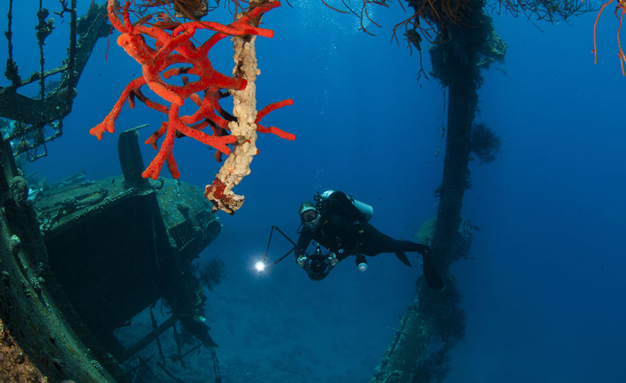
[[[89,1],[80,3],[84,12]],[[294,99],[264,123],[297,140],[259,136],[252,173],[235,188],[246,195],[244,207],[232,217],[218,213],[222,232],[202,257],[224,258],[227,277],[208,295],[207,324],[220,345],[224,379],[244,366],[265,382],[368,382],[413,300],[419,267],[381,255],[366,273],[348,260],[312,282],[291,258],[264,275],[252,264],[265,251],[270,226],[297,238],[299,203],[327,188],[371,204],[372,223],[386,234],[413,238],[437,209],[443,92],[434,79],[416,81],[415,51],[390,43],[393,25],[408,17],[397,4],[375,9],[382,27],[371,25],[377,36],[368,36],[353,16],[319,1],[294,3],[264,17],[275,37],[257,40],[257,100],[264,106]],[[15,54],[25,77],[37,69],[34,12],[16,8],[17,17],[30,20],[14,26],[23,29]],[[616,19],[612,9],[603,15],[594,65],[595,12],[569,24],[537,22],[541,29],[524,17],[492,16],[509,50],[504,64],[483,71],[476,122],[498,132],[502,149],[493,163],[470,164],[463,215],[480,230],[469,258],[450,269],[467,331],[445,382],[626,382],[626,79],[616,57]],[[229,17],[220,11],[214,19]],[[65,35],[51,38],[49,68],[66,44]],[[48,145],[49,157],[27,167],[49,182],[81,166],[91,179],[120,173],[117,136],[98,142],[89,129],[140,69],[115,38],[105,60],[106,45],[100,40],[82,74],[64,136]],[[211,58],[229,73],[230,42],[222,40]],[[428,53],[423,61],[428,71]],[[150,123],[143,140],[161,121],[157,112],[126,106],[117,129]],[[154,151],[142,149],[148,164]],[[181,180],[202,188],[219,168],[213,151],[190,139],[176,141],[174,156]],[[289,249],[281,238],[273,246],[273,259]]]

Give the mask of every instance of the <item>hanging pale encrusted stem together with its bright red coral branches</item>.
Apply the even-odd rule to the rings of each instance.
[[[248,10],[240,13],[237,20],[229,25],[198,20],[179,23],[163,14],[159,14],[161,19],[158,21],[152,20],[152,14],[139,14],[138,20],[132,22],[130,14],[139,12],[130,10],[131,5],[131,1],[126,1],[124,7],[120,8],[117,0],[108,0],[108,16],[113,27],[121,32],[117,44],[141,64],[142,75],[126,86],[111,112],[90,133],[98,139],[102,139],[104,132],[113,133],[115,120],[127,99],[130,108],[135,106],[137,98],[149,108],[167,114],[167,121],[146,140],[146,144],[157,149],[159,138],[165,136],[156,156],[143,171],[143,177],[156,180],[164,163],[167,163],[172,177],[180,177],[173,155],[174,138],[194,138],[214,147],[218,162],[221,162],[222,153],[229,156],[213,184],[207,186],[205,196],[213,203],[214,210],[221,209],[233,214],[242,206],[244,197],[235,195],[232,188],[250,173],[252,158],[258,153],[256,132],[295,139],[293,134],[277,127],[259,124],[268,112],[291,105],[291,99],[272,103],[258,113],[256,110],[254,82],[259,70],[254,41],[256,36],[273,37],[273,31],[259,28],[258,25],[262,15],[279,7],[280,2],[251,1]],[[196,47],[192,38],[198,29],[211,29],[216,33]],[[214,70],[207,57],[211,47],[227,36],[233,36],[235,45],[233,77]],[[146,38],[154,39],[154,46],[148,45]],[[198,79],[191,81],[187,75],[196,75]],[[178,78],[182,85],[165,82],[176,76],[181,76]],[[141,91],[144,85],[170,105],[148,99]],[[220,106],[219,100],[228,96],[223,90],[229,90],[233,95],[233,115]],[[198,110],[194,114],[181,116],[179,109],[187,99],[196,103]],[[203,131],[209,125],[211,134]],[[234,147],[233,151],[228,145]]]

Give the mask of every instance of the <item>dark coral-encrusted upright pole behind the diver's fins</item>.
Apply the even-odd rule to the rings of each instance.
[[[412,4],[419,6],[419,1]],[[470,0],[467,5],[459,16],[463,23],[434,20],[440,33],[429,49],[433,75],[448,88],[445,160],[431,243],[434,262],[443,274],[464,255],[459,251],[464,240],[461,209],[469,186],[471,129],[482,82],[480,50],[488,45],[491,30],[491,19],[482,12],[483,0]],[[454,280],[446,277],[445,283],[443,290],[435,291],[426,287],[423,279],[418,280],[415,301],[402,317],[371,383],[433,382],[445,376],[447,353],[463,336],[465,326]],[[432,341],[434,337],[441,344],[433,347],[437,344]]]

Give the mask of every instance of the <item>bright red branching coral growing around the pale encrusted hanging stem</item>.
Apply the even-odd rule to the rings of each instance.
[[[124,102],[128,99],[130,108],[134,108],[135,98],[137,98],[148,108],[167,114],[167,121],[146,140],[146,144],[159,150],[146,171],[143,172],[143,177],[156,179],[165,163],[167,163],[172,177],[178,178],[180,176],[173,155],[174,139],[177,137],[188,136],[200,141],[200,143],[216,148],[216,160],[220,161],[222,153],[227,155],[231,153],[231,149],[227,145],[233,145],[237,141],[235,136],[229,134],[228,126],[229,122],[235,118],[224,111],[219,104],[220,99],[224,97],[222,90],[243,90],[247,82],[243,78],[229,77],[213,69],[211,61],[207,57],[209,49],[227,36],[252,34],[271,38],[274,35],[272,30],[254,25],[258,25],[257,19],[264,12],[279,7],[279,1],[264,3],[248,10],[244,16],[229,25],[212,21],[191,21],[188,23],[159,21],[150,23],[152,14],[141,16],[133,23],[130,18],[130,5],[131,1],[126,1],[124,7],[120,8],[117,0],[108,0],[108,17],[113,27],[121,32],[121,36],[117,38],[117,44],[141,64],[142,76],[133,79],[124,88],[111,112],[108,113],[102,123],[89,131],[90,134],[100,140],[104,132],[115,132],[115,121],[122,106],[124,106]],[[146,10],[143,9],[143,11]],[[134,12],[138,13],[139,11],[135,10]],[[216,33],[200,47],[196,47],[192,40],[197,29],[211,29]],[[154,39],[154,45],[148,45],[146,38]],[[186,66],[170,68],[174,64]],[[188,74],[196,75],[198,79],[189,81],[186,76]],[[183,76],[182,86],[165,82],[165,80],[170,80],[178,75]],[[170,103],[170,106],[167,107],[146,97],[141,90],[144,85],[147,85],[156,95]],[[203,96],[200,96],[202,94]],[[198,110],[188,116],[179,116],[180,107],[187,99],[193,101],[198,106]],[[292,103],[292,100],[285,100],[266,106],[258,113],[257,122],[268,112]],[[211,125],[212,134],[202,132],[202,129],[208,125]],[[257,130],[258,132],[273,133],[288,140],[295,138],[293,134],[283,132],[277,127],[258,125]],[[159,147],[158,142],[161,136],[165,136],[165,138]]]

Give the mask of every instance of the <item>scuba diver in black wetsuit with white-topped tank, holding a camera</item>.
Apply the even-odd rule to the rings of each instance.
[[[315,201],[303,202],[298,210],[303,229],[295,249],[296,262],[312,280],[322,280],[341,260],[356,255],[360,271],[367,269],[364,256],[395,253],[395,256],[411,267],[405,251],[417,251],[424,262],[424,277],[430,288],[443,288],[443,278],[432,262],[430,247],[410,240],[393,239],[378,231],[369,221],[373,208],[338,190],[316,193]],[[323,254],[319,245],[314,254],[306,249],[315,240],[329,250]]]

